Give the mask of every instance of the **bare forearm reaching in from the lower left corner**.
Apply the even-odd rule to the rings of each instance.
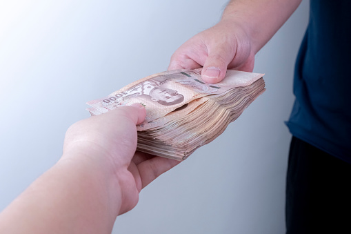
[[[111,233],[121,191],[102,164],[61,159],[1,213],[0,233]]]

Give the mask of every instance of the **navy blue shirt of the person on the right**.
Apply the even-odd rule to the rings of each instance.
[[[311,0],[286,123],[295,137],[351,163],[351,1]]]

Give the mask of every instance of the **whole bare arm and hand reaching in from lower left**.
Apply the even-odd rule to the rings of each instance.
[[[111,233],[141,189],[179,164],[135,151],[145,116],[134,104],[73,124],[59,162],[0,213],[0,233]]]

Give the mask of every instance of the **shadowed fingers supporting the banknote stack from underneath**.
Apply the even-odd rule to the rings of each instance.
[[[170,168],[179,164],[179,161],[167,159],[165,157],[153,157],[138,165],[139,175],[141,177],[141,188],[145,188],[154,179],[162,175]]]

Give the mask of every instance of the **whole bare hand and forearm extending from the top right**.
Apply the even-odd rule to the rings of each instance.
[[[195,35],[171,57],[168,70],[203,67],[205,82],[218,83],[227,69],[252,72],[254,55],[267,43],[301,0],[232,0],[221,21]]]

